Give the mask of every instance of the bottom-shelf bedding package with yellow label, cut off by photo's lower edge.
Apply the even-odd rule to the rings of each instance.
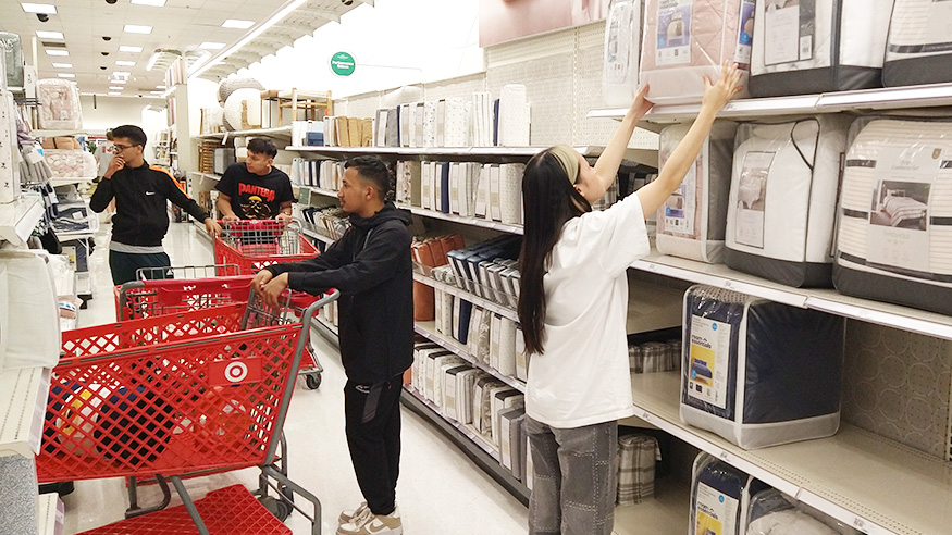
[[[751,498],[768,488],[759,480],[702,452],[694,459],[690,535],[745,535]]]

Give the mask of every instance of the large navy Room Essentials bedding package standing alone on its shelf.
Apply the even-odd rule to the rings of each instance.
[[[681,421],[745,449],[836,434],[844,329],[840,316],[692,286]]]

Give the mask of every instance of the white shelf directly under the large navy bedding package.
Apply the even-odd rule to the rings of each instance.
[[[869,535],[949,533],[952,466],[842,424],[829,438],[746,451],[687,426],[679,372],[633,374],[636,415]]]

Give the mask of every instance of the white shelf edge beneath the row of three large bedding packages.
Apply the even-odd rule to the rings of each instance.
[[[832,289],[793,288],[733,271],[724,264],[706,264],[658,254],[656,251],[632,266],[636,270],[740,291],[793,307],[820,310],[952,340],[952,318],[935,312],[844,296]]]

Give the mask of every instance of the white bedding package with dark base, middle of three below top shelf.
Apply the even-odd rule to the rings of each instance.
[[[727,265],[788,286],[832,286],[837,188],[849,122],[831,114],[738,128]]]

